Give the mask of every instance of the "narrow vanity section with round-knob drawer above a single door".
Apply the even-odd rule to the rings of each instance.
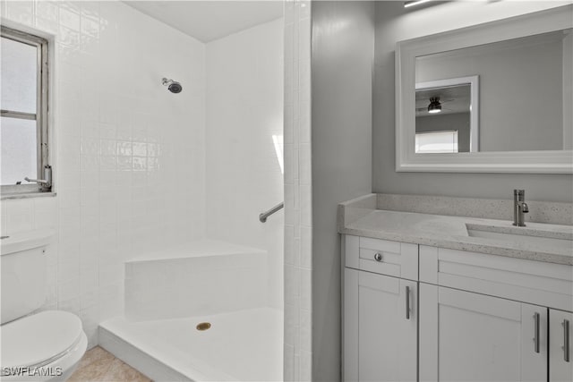
[[[344,379],[417,378],[418,246],[346,235]]]

